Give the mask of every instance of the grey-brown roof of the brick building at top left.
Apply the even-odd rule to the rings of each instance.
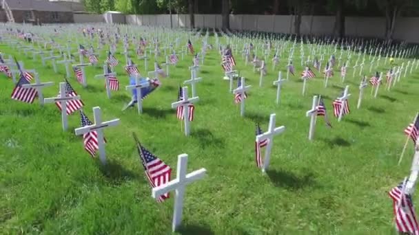
[[[59,3],[48,0],[6,0],[11,10],[39,10],[45,12],[72,12]]]

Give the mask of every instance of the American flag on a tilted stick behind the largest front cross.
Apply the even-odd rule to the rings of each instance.
[[[134,135],[136,148],[139,151],[141,164],[143,164],[145,177],[152,188],[156,188],[170,181],[172,169],[164,161],[153,155],[149,150],[141,146],[139,140]],[[159,203],[169,198],[169,193],[161,195],[157,201]]]

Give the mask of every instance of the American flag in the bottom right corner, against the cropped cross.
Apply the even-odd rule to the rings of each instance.
[[[393,199],[393,212],[396,230],[400,233],[419,234],[418,221],[411,195],[405,192],[406,180],[391,189],[389,196]]]

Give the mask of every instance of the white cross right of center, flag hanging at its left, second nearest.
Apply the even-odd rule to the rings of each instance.
[[[265,159],[263,160],[262,172],[266,172],[269,167],[269,159],[271,157],[272,146],[274,145],[274,136],[279,135],[285,131],[285,126],[275,127],[276,114],[272,113],[269,117],[269,128],[265,133],[256,135],[256,142],[260,142],[263,139],[267,139],[267,146],[265,150]]]

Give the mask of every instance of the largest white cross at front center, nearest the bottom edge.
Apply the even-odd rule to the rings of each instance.
[[[185,195],[185,186],[188,184],[202,179],[205,177],[207,170],[201,168],[187,172],[187,154],[178,155],[178,166],[176,171],[176,179],[167,182],[161,186],[152,189],[152,197],[154,199],[159,198],[161,195],[174,190],[174,212],[172,221],[172,231],[175,232],[182,222],[182,211],[183,211],[183,196]]]

